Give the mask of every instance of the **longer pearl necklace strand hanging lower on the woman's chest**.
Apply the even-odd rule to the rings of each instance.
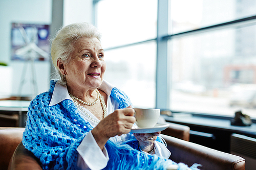
[[[97,90],[97,89],[96,89],[96,90]],[[105,104],[105,101],[104,101],[102,95],[99,93],[98,90],[97,90],[97,93],[98,93],[98,96],[99,96],[99,99],[100,99],[100,104],[101,104],[102,110],[103,110],[103,118],[105,118],[105,117],[106,117],[106,104]],[[69,93],[69,95],[70,95],[70,97],[73,99],[73,101],[74,101],[74,103],[76,104],[76,106],[79,107],[79,109],[82,111],[83,116],[88,117],[89,119],[91,119],[93,122],[95,122],[95,123],[97,123],[97,124],[100,123],[100,121],[97,121],[97,120],[93,119],[93,118],[81,107],[81,105],[77,102],[77,101],[79,101],[79,100],[77,100],[78,98],[76,99],[76,97],[75,97],[74,95],[70,94],[70,93]]]

